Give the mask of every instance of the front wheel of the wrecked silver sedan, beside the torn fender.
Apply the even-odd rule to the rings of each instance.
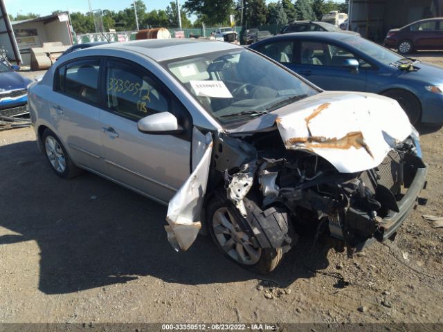
[[[242,268],[260,274],[271,273],[282,261],[282,248],[254,246],[250,237],[243,232],[240,226],[242,222],[237,222],[241,219],[244,220],[243,216],[222,193],[213,196],[206,206],[206,226],[217,248]]]

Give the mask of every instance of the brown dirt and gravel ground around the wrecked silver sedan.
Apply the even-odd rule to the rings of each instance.
[[[165,207],[92,174],[57,178],[32,129],[0,131],[0,322],[442,324],[443,229],[422,214],[443,216],[443,130],[421,131],[428,204],[395,242],[347,259],[304,239],[265,279],[207,237],[175,252]]]

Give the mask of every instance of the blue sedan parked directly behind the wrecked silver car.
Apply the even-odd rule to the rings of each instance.
[[[415,124],[443,124],[443,68],[346,33],[289,33],[250,46],[325,90],[379,93]]]

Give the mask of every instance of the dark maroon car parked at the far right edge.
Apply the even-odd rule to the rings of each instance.
[[[422,19],[403,28],[389,30],[384,44],[389,48],[397,48],[402,54],[413,50],[442,50],[443,17]]]

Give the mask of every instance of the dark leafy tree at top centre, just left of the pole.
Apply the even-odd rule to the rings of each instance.
[[[205,15],[205,24],[228,24],[233,6],[233,0],[186,0],[183,4],[191,14]]]

